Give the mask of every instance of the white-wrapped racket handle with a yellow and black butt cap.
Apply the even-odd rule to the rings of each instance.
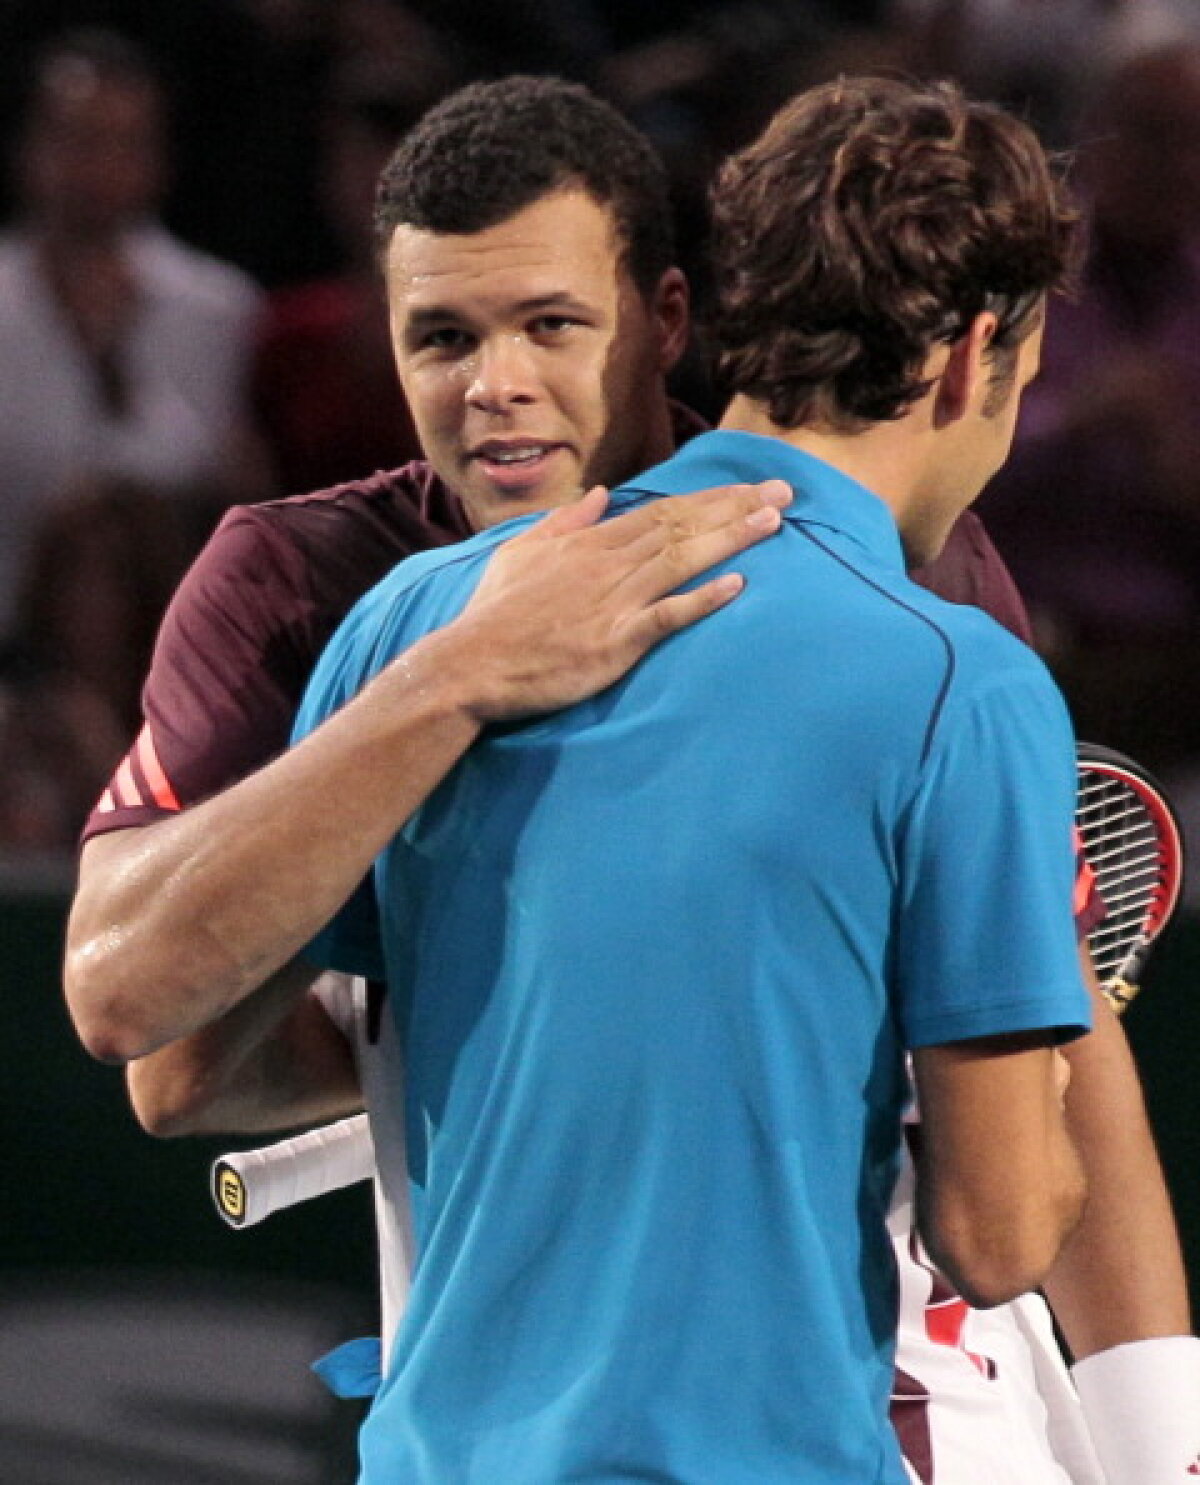
[[[374,1175],[365,1114],[337,1120],[260,1149],[212,1161],[212,1200],[230,1227],[254,1227],[281,1207],[352,1187]]]

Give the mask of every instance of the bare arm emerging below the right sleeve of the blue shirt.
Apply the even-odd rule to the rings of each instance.
[[[968,1304],[1004,1304],[1041,1283],[1084,1206],[1056,1053],[1043,1034],[994,1037],[919,1048],[913,1069],[921,1237]]]

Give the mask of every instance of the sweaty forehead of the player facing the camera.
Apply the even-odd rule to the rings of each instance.
[[[385,260],[392,313],[613,293],[625,276],[610,206],[585,192],[544,196],[481,232],[400,226]]]

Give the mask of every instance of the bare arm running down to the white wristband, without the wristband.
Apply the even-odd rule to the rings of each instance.
[[[1083,1221],[1046,1279],[1077,1359],[1191,1329],[1179,1238],[1123,1028],[1093,985],[1095,1031],[1065,1048],[1066,1121],[1087,1172]]]

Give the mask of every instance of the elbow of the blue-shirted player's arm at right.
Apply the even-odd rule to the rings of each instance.
[[[927,1224],[922,1238],[967,1304],[991,1310],[1044,1282],[1084,1204],[1083,1175],[1071,1172],[1051,1191],[1043,1188],[989,1219],[968,1212],[942,1213]]]

